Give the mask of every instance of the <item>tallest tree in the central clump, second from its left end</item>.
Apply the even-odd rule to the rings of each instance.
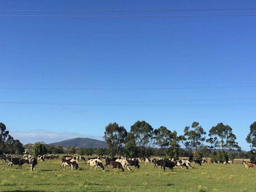
[[[140,146],[142,156],[146,157],[148,150],[154,143],[154,129],[145,121],[137,121],[131,126],[131,133],[134,134],[137,146]]]

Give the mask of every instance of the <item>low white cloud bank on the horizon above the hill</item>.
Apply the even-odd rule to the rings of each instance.
[[[48,132],[46,130],[33,130],[33,131],[9,131],[14,139],[19,139],[20,142],[25,145],[28,143],[44,142],[55,143],[67,139],[74,139],[77,137],[91,138],[97,140],[103,140],[102,136],[84,135],[79,133],[67,133],[67,132]]]

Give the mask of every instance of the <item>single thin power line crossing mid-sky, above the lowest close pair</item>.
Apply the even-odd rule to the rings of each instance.
[[[223,89],[223,88],[251,88],[256,86],[223,86],[223,87],[178,87],[178,88],[18,88],[0,87],[13,90],[172,90],[172,89]]]

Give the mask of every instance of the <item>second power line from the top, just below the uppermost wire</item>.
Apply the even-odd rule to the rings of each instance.
[[[14,17],[84,17],[84,18],[154,18],[154,17],[222,17],[222,16],[256,16],[256,14],[245,15],[0,15]]]

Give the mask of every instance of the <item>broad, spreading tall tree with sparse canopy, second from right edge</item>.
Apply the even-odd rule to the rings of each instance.
[[[211,149],[218,148],[221,152],[224,152],[226,149],[241,151],[241,147],[235,142],[236,136],[232,133],[232,128],[229,125],[218,123],[218,125],[210,129],[209,137],[206,141],[211,144]]]

